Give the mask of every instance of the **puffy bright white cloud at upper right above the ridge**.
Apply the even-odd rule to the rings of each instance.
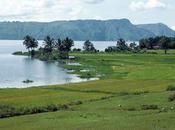
[[[139,0],[139,1],[133,1],[130,4],[130,8],[133,11],[137,10],[150,10],[155,8],[165,8],[166,4],[161,2],[160,0]]]

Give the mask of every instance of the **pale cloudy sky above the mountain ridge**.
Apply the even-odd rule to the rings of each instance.
[[[175,0],[0,0],[0,21],[122,19],[175,30]]]

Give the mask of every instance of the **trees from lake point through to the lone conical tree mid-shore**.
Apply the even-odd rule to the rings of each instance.
[[[38,40],[29,35],[25,36],[23,41],[23,45],[25,45],[26,49],[28,50],[28,55],[30,55],[32,58],[36,57],[42,60],[68,59],[70,51],[82,51],[81,49],[76,48],[71,50],[71,48],[74,46],[74,41],[69,37],[66,37],[65,39],[58,38],[55,40],[50,36],[46,36],[43,43],[43,46],[39,47]],[[89,40],[84,42],[83,51],[98,52],[93,43]]]

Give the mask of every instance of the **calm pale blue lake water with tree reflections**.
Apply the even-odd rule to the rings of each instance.
[[[23,41],[0,40],[0,88],[25,88],[31,86],[64,84],[86,81],[68,74],[59,63],[43,62],[25,56],[13,56],[15,51],[26,51]],[[39,41],[42,45],[42,41]],[[116,42],[93,42],[98,50],[116,45]],[[82,48],[83,42],[75,42],[73,48]],[[33,80],[25,84],[24,80]]]

